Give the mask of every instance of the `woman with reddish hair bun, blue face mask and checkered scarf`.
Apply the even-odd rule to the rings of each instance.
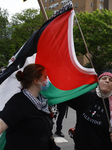
[[[30,64],[18,71],[16,78],[23,90],[12,96],[0,113],[0,133],[6,130],[4,150],[50,150],[52,113],[40,94],[49,84],[46,69]]]

